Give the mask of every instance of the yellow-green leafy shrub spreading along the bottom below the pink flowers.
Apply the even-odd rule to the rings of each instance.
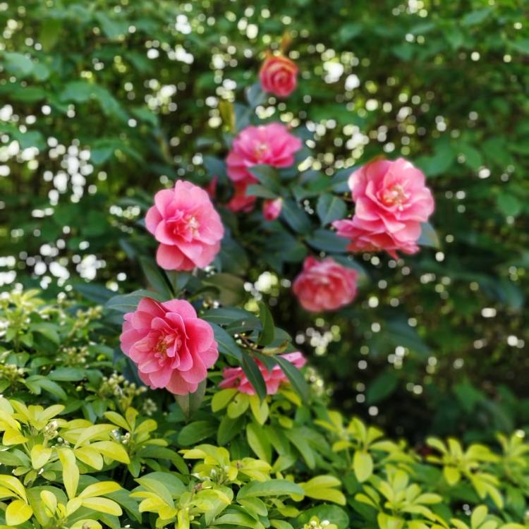
[[[494,446],[432,438],[419,453],[329,410],[318,384],[306,401],[288,385],[259,399],[214,389],[218,372],[186,418],[117,374],[127,368],[106,353],[116,335],[100,310],[35,292],[2,303],[2,528],[525,527],[522,432]]]

